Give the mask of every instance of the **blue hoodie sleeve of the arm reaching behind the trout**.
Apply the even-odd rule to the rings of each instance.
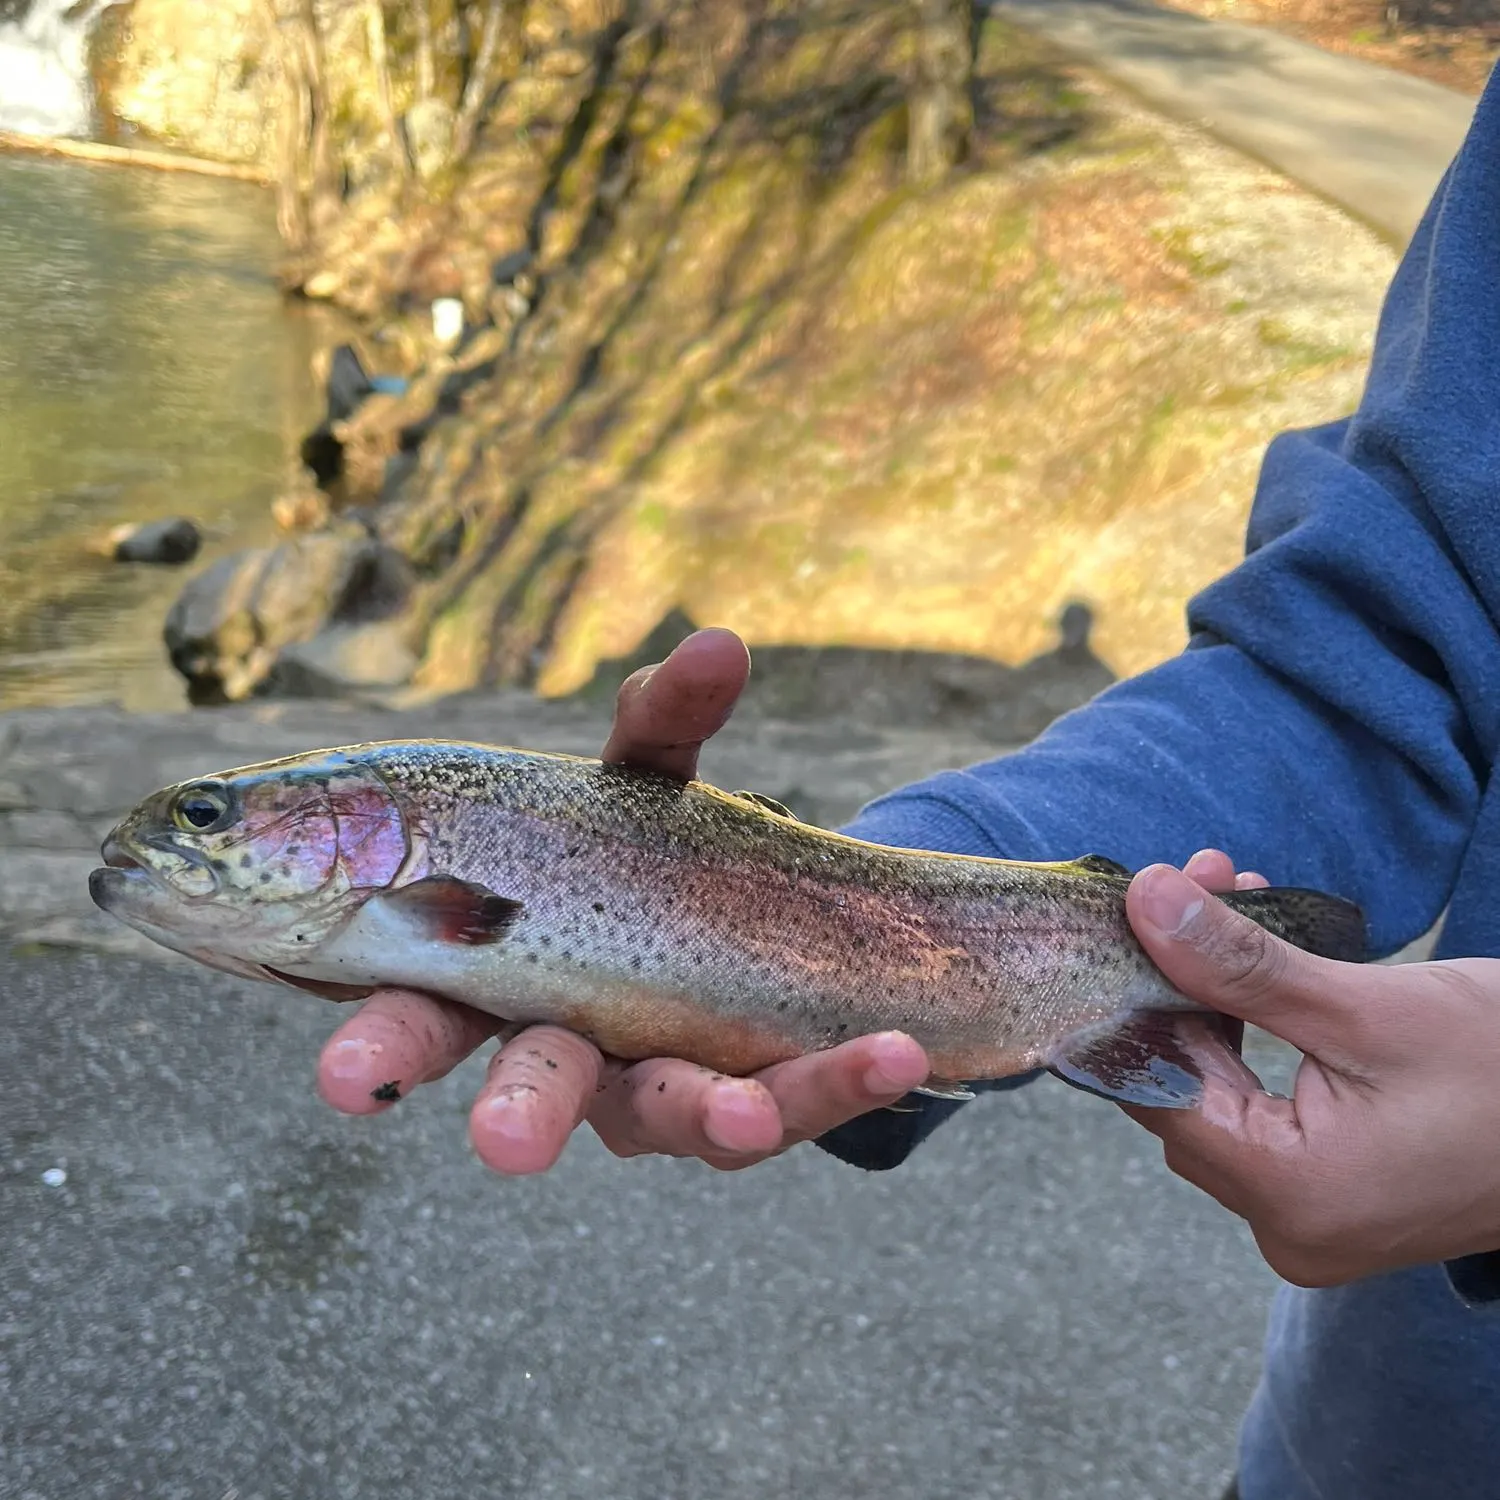
[[[1245,560],[1188,646],[1014,754],[879,798],[906,848],[1131,868],[1218,846],[1336,891],[1372,956],[1448,902],[1500,716],[1500,84],[1402,258],[1353,417],[1268,448]],[[890,1167],[956,1108],[914,1096],[824,1137]]]

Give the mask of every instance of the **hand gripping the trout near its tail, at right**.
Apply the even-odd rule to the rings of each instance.
[[[1185,994],[1304,1053],[1293,1094],[1209,1077],[1197,1110],[1125,1113],[1298,1286],[1500,1248],[1500,960],[1314,957],[1206,894],[1208,858],[1140,872],[1131,922]]]

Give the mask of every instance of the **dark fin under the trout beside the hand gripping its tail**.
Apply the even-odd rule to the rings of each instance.
[[[1206,1072],[1238,1072],[1250,1089],[1260,1088],[1230,1041],[1232,1024],[1212,1011],[1142,1011],[1108,1030],[1066,1040],[1048,1071],[1122,1104],[1192,1108]]]

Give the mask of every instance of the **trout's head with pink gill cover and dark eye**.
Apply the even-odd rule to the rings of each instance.
[[[88,894],[102,910],[201,963],[266,978],[412,873],[423,840],[375,768],[336,752],[154,792],[100,858]]]

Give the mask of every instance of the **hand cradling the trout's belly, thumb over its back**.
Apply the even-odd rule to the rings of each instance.
[[[750,672],[744,642],[699,630],[620,690],[603,758],[681,780],[734,711]],[[513,1032],[513,1034],[512,1034]],[[318,1090],[346,1114],[376,1114],[452,1072],[502,1023],[412,990],[380,990],[322,1048]],[[495,1172],[544,1172],[585,1120],[618,1156],[699,1156],[746,1167],[867,1110],[928,1074],[909,1036],[882,1032],[728,1078],[688,1062],[622,1064],[556,1026],[506,1029],[470,1112],[470,1140]]]

